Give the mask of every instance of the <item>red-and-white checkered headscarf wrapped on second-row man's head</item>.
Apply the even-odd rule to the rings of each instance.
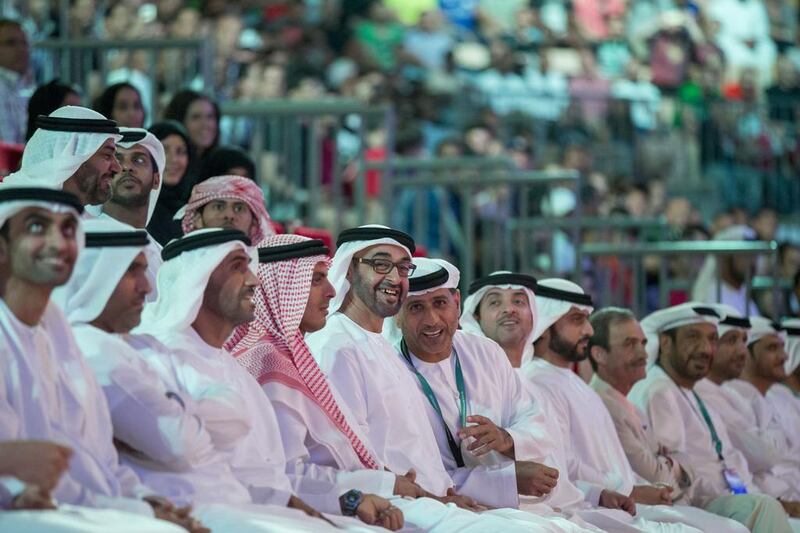
[[[212,200],[222,199],[241,200],[250,207],[254,219],[250,228],[252,242],[261,242],[264,237],[275,234],[267,208],[264,207],[264,193],[261,187],[253,180],[242,176],[215,176],[195,185],[189,202],[183,209],[181,220],[183,234],[197,229],[194,222],[198,209]]]

